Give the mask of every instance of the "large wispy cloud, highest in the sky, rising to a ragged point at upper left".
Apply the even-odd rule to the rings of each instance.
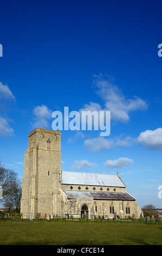
[[[110,111],[111,119],[127,122],[129,113],[133,111],[145,111],[148,103],[138,96],[132,99],[126,99],[119,87],[115,86],[109,79],[104,80],[102,74],[95,76],[94,84],[97,88],[97,94],[104,101],[104,107],[98,103],[90,102],[84,105],[80,111]]]

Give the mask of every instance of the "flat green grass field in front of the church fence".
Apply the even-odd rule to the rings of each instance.
[[[162,225],[0,222],[0,245],[162,245]]]

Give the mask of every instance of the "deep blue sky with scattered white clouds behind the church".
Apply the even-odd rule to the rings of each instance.
[[[62,131],[62,169],[119,175],[162,208],[161,1],[1,3],[0,156],[23,178],[28,133],[53,111],[111,112],[110,136]],[[142,133],[143,132],[143,133]]]

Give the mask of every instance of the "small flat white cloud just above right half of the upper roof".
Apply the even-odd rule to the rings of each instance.
[[[128,164],[133,163],[132,159],[128,159],[127,157],[119,157],[116,160],[108,160],[104,163],[104,167],[107,168],[123,168]]]

